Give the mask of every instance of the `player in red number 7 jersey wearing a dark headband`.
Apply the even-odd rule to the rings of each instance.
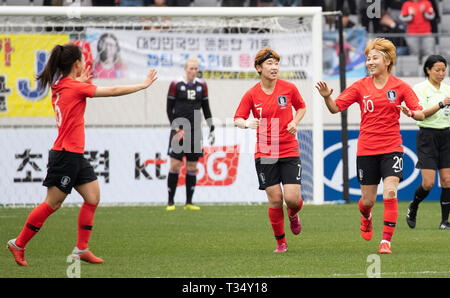
[[[294,84],[278,79],[280,56],[270,48],[261,49],[254,66],[261,80],[242,97],[234,116],[239,128],[257,129],[255,164],[259,189],[269,200],[269,220],[277,249],[287,251],[284,233],[283,201],[292,232],[301,231],[298,212],[302,208],[301,163],[297,125],[305,115],[305,102]],[[296,113],[293,116],[292,108]],[[252,112],[254,119],[250,120]],[[283,183],[283,188],[280,186]]]

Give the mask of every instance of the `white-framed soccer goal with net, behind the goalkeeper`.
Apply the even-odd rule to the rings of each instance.
[[[120,42],[120,65],[97,69],[105,44],[101,37],[110,36],[107,33]],[[237,104],[258,81],[253,58],[263,46],[281,55],[280,78],[296,84],[307,104],[297,134],[302,195],[306,202],[324,202],[323,102],[314,88],[322,79],[320,7],[3,6],[0,137],[11,141],[0,160],[2,169],[9,171],[0,180],[0,205],[41,200],[34,194],[42,193],[56,126],[48,90],[40,92],[34,77],[51,48],[69,41],[82,47],[95,72],[93,83],[100,86],[138,82],[146,69],[158,70],[158,80],[145,91],[88,101],[85,156],[99,175],[104,202],[111,198],[111,203],[166,202],[167,91],[170,81],[184,74],[189,55],[199,57],[217,127],[216,144],[208,153],[216,160],[205,158],[199,169],[205,178],[195,200],[265,202],[264,193],[257,191],[253,164],[255,132],[232,125]],[[240,155],[230,154],[233,150]],[[120,176],[124,173],[128,176]],[[254,189],[252,194],[249,189]],[[183,201],[184,191],[178,192],[176,201]],[[20,197],[18,202],[14,194]],[[152,194],[156,199],[149,199]]]

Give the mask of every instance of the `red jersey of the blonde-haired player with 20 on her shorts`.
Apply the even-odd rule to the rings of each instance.
[[[400,135],[402,102],[412,110],[422,110],[411,87],[390,75],[386,85],[377,89],[372,77],[353,83],[335,100],[341,111],[357,102],[361,109],[357,156],[403,152]]]

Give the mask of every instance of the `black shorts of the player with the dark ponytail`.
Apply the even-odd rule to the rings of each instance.
[[[97,175],[82,153],[50,150],[44,186],[56,186],[70,194],[72,188],[97,180]]]

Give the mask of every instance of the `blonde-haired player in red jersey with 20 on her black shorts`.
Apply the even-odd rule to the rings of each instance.
[[[325,82],[316,85],[328,110],[337,113],[353,103],[361,109],[361,124],[357,148],[357,174],[361,184],[361,235],[372,238],[371,209],[377,198],[377,188],[383,179],[383,240],[379,253],[390,254],[391,238],[397,222],[397,190],[403,179],[403,145],[400,135],[400,110],[415,120],[423,120],[422,106],[411,87],[391,75],[396,54],[387,39],[376,38],[365,48],[366,67],[370,73],[345,89],[336,100],[333,89]],[[406,107],[402,106],[405,102]]]

